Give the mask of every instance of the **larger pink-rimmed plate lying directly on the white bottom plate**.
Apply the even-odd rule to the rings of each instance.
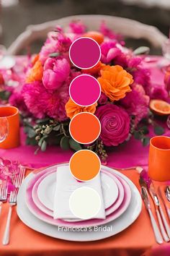
[[[64,163],[66,164],[66,163]],[[43,174],[45,174],[45,171],[48,171],[48,174],[50,171],[54,168],[54,166],[51,166],[44,171],[41,171],[40,173],[36,174],[37,179],[40,178]],[[56,170],[56,169],[55,169]],[[110,174],[112,174],[112,171],[109,171]],[[113,175],[113,174],[112,174]],[[27,187],[27,192],[26,192],[26,204],[27,208],[30,210],[30,212],[35,215],[37,218],[39,218],[42,221],[45,221],[46,223],[50,223],[54,226],[77,226],[77,227],[86,227],[86,226],[99,226],[99,225],[104,225],[110,221],[114,221],[115,218],[118,218],[122,213],[125,212],[125,210],[128,208],[128,205],[130,204],[130,198],[131,198],[131,191],[130,187],[125,182],[124,179],[120,178],[121,183],[124,187],[125,190],[125,197],[123,198],[122,204],[120,205],[120,208],[115,210],[114,213],[109,214],[106,219],[91,219],[91,220],[86,220],[86,221],[77,221],[77,222],[66,222],[61,219],[53,219],[51,216],[48,216],[48,214],[43,213],[42,210],[37,208],[37,205],[35,205],[34,201],[32,200],[32,188],[35,184],[35,182],[31,182],[28,184]]]

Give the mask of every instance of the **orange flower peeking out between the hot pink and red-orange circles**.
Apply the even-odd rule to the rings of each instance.
[[[66,114],[70,119],[72,119],[73,116],[81,112],[90,112],[91,114],[94,114],[94,112],[96,111],[96,107],[97,107],[97,103],[94,103],[93,105],[87,106],[87,107],[79,106],[76,103],[74,103],[71,100],[71,98],[69,98],[65,106]]]

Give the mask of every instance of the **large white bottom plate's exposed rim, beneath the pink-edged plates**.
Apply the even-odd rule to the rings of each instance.
[[[125,179],[125,181],[128,182],[130,186],[132,194],[128,209],[119,218],[115,219],[115,221],[111,221],[104,226],[100,226],[100,229],[97,228],[97,230],[95,230],[94,227],[89,229],[84,228],[82,230],[77,231],[66,231],[66,228],[64,229],[63,227],[53,226],[51,224],[45,223],[44,221],[40,221],[39,218],[35,217],[30,212],[30,210],[28,210],[27,205],[25,203],[27,184],[34,176],[33,173],[29,174],[24,179],[24,182],[22,182],[22,186],[19,189],[17,197],[17,214],[19,218],[23,223],[25,223],[27,226],[29,226],[31,229],[34,229],[35,231],[39,231],[42,234],[52,236],[54,238],[64,239],[68,241],[95,241],[107,238],[109,236],[113,236],[125,230],[136,220],[136,218],[138,218],[140,214],[142,208],[142,200],[140,197],[140,193],[138,192],[138,189],[135,187],[135,184],[133,184],[133,182],[131,182],[130,179],[128,179],[125,175],[121,174],[119,171],[115,171],[107,166],[102,166],[102,168],[104,168],[104,170],[106,171],[113,171],[115,174]]]

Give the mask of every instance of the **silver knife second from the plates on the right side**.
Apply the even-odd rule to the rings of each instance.
[[[159,226],[161,229],[161,234],[164,237],[165,242],[169,242],[170,241],[170,227],[169,227],[168,222],[166,221],[166,217],[164,216],[164,212],[161,208],[160,202],[158,200],[158,196],[156,195],[153,182],[151,182],[151,184],[150,184],[149,192],[151,194],[151,197],[152,197],[154,205],[155,205],[156,216],[158,218],[158,223],[159,223]],[[165,231],[164,227],[165,227],[166,231]],[[168,236],[166,233],[168,234]]]

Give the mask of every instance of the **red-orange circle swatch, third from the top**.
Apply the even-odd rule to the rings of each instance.
[[[82,112],[73,116],[69,125],[71,137],[81,144],[89,144],[97,140],[101,125],[97,116]]]

